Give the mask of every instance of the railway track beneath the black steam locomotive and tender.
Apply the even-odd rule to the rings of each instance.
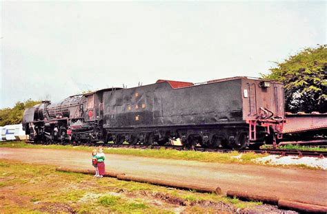
[[[30,144],[40,144],[40,143],[34,143],[32,141],[27,141]],[[57,145],[55,143],[49,144],[43,144],[42,145]],[[63,144],[65,145],[65,144]],[[70,144],[66,144],[70,145]],[[79,143],[76,144],[76,146],[85,146],[85,147],[110,147],[110,148],[126,148],[126,149],[176,149],[179,151],[203,151],[203,152],[217,152],[217,153],[228,153],[235,150],[232,149],[224,149],[224,148],[217,148],[217,149],[208,149],[203,147],[193,147],[193,148],[186,148],[182,146],[175,146],[175,145],[128,145],[128,144],[122,144],[122,145],[115,145],[115,144],[105,144],[105,143]],[[327,151],[305,151],[305,150],[297,150],[297,149],[244,149],[239,150],[239,153],[268,153],[270,155],[279,155],[279,156],[298,156],[299,158],[302,157],[316,157],[316,158],[327,158]]]

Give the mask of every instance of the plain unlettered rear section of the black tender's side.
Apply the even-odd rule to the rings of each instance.
[[[241,80],[162,91],[164,123],[168,125],[239,122]]]

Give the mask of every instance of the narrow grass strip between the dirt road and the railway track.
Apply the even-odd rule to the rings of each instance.
[[[2,142],[0,147],[10,148],[33,148],[33,149],[73,149],[80,151],[92,151],[94,147],[72,146],[72,145],[30,145],[26,142],[14,141],[14,142]],[[120,154],[128,156],[140,156],[150,158],[167,158],[177,160],[197,160],[201,162],[220,162],[220,163],[241,163],[241,164],[253,164],[251,161],[254,158],[261,158],[267,156],[266,154],[257,153],[244,153],[239,156],[240,153],[232,151],[230,153],[213,153],[213,152],[201,152],[201,151],[177,151],[175,149],[122,149],[122,148],[105,148],[105,153],[108,154]],[[239,156],[239,158],[235,158]]]

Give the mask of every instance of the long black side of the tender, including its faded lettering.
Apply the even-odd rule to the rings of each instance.
[[[105,127],[242,122],[241,80],[172,89],[166,82],[104,92]]]

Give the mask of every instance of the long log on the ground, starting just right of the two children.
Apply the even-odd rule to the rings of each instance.
[[[119,180],[128,180],[128,181],[135,181],[135,182],[143,182],[143,183],[149,183],[149,184],[155,184],[160,186],[170,186],[175,187],[179,189],[192,189],[198,192],[202,193],[216,193],[217,195],[221,194],[221,189],[219,187],[210,188],[210,187],[204,187],[204,186],[198,186],[195,184],[181,184],[179,182],[171,182],[166,180],[159,180],[159,179],[153,179],[153,178],[139,178],[131,175],[117,175],[117,179]]]

